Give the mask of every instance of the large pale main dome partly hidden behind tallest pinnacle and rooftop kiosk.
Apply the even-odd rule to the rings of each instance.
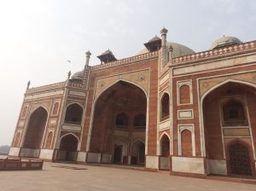
[[[173,48],[173,52],[172,52],[173,58],[183,56],[183,55],[191,55],[191,54],[195,53],[195,51],[193,49],[189,49],[189,47],[186,47],[183,44],[167,42],[168,47],[171,45]],[[148,49],[146,49],[146,48],[139,51],[137,55],[142,55],[145,53],[148,53]]]

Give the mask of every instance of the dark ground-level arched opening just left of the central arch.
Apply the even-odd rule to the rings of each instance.
[[[57,154],[57,159],[75,161],[77,159],[77,148],[78,148],[77,137],[69,134],[61,138],[60,149]]]

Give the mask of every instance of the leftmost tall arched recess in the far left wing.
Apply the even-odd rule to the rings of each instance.
[[[39,156],[47,116],[48,113],[44,107],[38,107],[30,115],[20,156],[36,158]]]

